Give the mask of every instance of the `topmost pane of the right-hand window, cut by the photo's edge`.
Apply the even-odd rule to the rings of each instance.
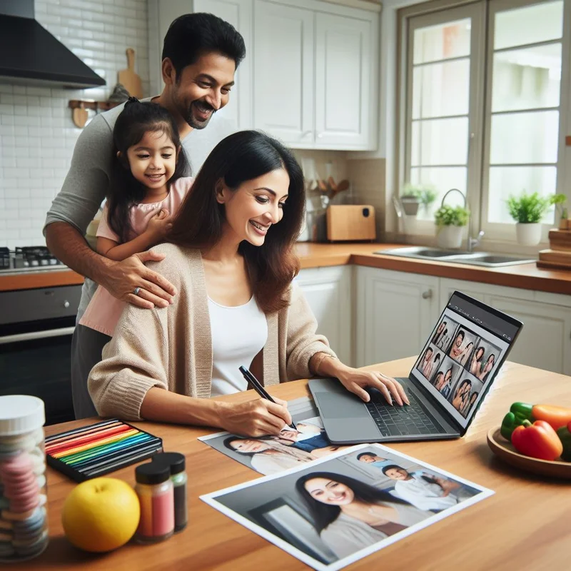
[[[495,15],[494,49],[556,40],[562,33],[562,0],[502,11]]]

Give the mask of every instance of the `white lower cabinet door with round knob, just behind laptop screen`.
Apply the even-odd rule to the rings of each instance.
[[[438,319],[438,278],[357,270],[357,365],[418,355]]]

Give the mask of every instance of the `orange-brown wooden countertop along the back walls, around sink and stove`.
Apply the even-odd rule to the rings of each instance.
[[[410,245],[406,245],[410,246]],[[403,244],[379,243],[311,243],[298,242],[295,251],[300,257],[301,268],[322,268],[327,266],[370,266],[410,273],[421,273],[440,278],[507,285],[511,288],[546,291],[550,293],[571,293],[571,271],[540,269],[535,263],[503,268],[482,268],[432,260],[414,260],[379,256],[375,251],[406,247]],[[0,276],[0,291],[50,288],[56,285],[83,283],[84,278],[74,271],[39,271]]]

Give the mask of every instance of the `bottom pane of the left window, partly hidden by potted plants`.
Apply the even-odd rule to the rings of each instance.
[[[430,211],[421,208],[418,211],[418,218],[423,220],[434,220],[434,213],[440,207],[442,199],[450,188],[458,188],[464,195],[466,194],[466,167],[423,167],[410,169],[410,182],[413,184],[423,184],[432,186],[438,193],[438,197],[430,207]],[[463,206],[464,201],[459,193],[453,192],[446,197],[446,203],[450,206]]]

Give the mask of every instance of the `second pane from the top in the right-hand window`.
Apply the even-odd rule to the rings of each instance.
[[[561,44],[494,55],[492,111],[559,106]]]

